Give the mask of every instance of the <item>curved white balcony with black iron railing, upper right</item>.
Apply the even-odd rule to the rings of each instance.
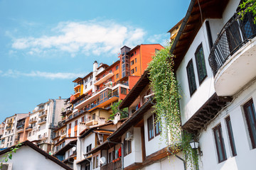
[[[218,96],[233,96],[256,77],[255,35],[250,13],[242,20],[235,13],[221,30],[208,59]]]

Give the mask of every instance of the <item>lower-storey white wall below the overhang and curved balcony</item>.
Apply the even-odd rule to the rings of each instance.
[[[251,147],[245,114],[242,108],[242,106],[251,98],[254,101],[254,104],[256,104],[256,83],[252,84],[248,89],[244,89],[238,96],[235,96],[234,101],[221,111],[220,115],[208,125],[207,130],[201,132],[199,142],[203,151],[203,157],[201,157],[203,169],[255,169],[256,149],[252,149]],[[228,115],[230,115],[235,147],[238,154],[235,157],[232,156],[228,139],[228,130],[225,123],[225,118],[227,118]],[[228,158],[220,164],[218,164],[218,156],[213,136],[213,128],[219,124],[222,128],[225,152]]]

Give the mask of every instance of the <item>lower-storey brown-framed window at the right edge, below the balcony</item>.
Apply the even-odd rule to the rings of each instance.
[[[252,142],[252,149],[256,147],[256,113],[252,99],[244,105],[247,128]]]

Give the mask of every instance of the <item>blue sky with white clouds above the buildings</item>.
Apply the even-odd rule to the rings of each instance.
[[[0,0],[0,121],[68,98],[75,78],[118,60],[123,45],[164,45],[189,3]]]

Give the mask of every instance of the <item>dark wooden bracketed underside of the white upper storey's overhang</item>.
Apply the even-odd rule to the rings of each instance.
[[[225,107],[229,101],[232,101],[233,98],[222,98],[217,96],[217,94],[213,94],[206,103],[201,106],[201,108],[196,111],[193,116],[186,121],[182,128],[191,132],[193,134],[197,134],[199,130],[206,128],[208,123],[210,123],[213,118],[219,113],[219,111]]]

